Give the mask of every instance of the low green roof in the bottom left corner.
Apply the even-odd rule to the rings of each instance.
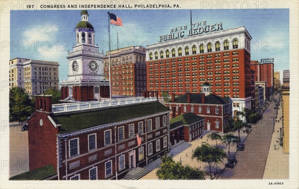
[[[56,170],[54,169],[54,167],[49,164],[46,165],[44,167],[32,170],[32,171],[28,171],[25,173],[22,173],[20,175],[16,175],[14,177],[9,178],[10,181],[23,181],[23,180],[28,180],[28,181],[32,181],[32,180],[45,180],[51,176],[56,175]]]

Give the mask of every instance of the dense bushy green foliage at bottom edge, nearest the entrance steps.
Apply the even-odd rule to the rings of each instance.
[[[205,180],[204,172],[198,168],[184,167],[171,156],[163,156],[161,160],[161,168],[156,173],[159,180]]]

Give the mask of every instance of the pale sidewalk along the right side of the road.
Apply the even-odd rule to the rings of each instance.
[[[280,109],[278,109],[277,114],[278,120],[282,117],[282,107],[279,107]],[[285,154],[283,147],[279,145],[281,135],[280,128],[282,127],[282,120],[275,123],[275,132],[272,135],[263,179],[289,179],[289,154]],[[274,149],[274,145],[276,150]]]

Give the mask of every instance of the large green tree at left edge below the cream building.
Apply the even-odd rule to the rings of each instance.
[[[24,121],[35,109],[34,101],[30,99],[25,90],[14,87],[9,90],[9,119]]]

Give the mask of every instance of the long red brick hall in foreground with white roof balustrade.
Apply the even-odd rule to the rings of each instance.
[[[30,171],[52,165],[58,180],[120,179],[169,151],[170,110],[156,98],[52,105],[51,96],[36,96],[35,103]]]

